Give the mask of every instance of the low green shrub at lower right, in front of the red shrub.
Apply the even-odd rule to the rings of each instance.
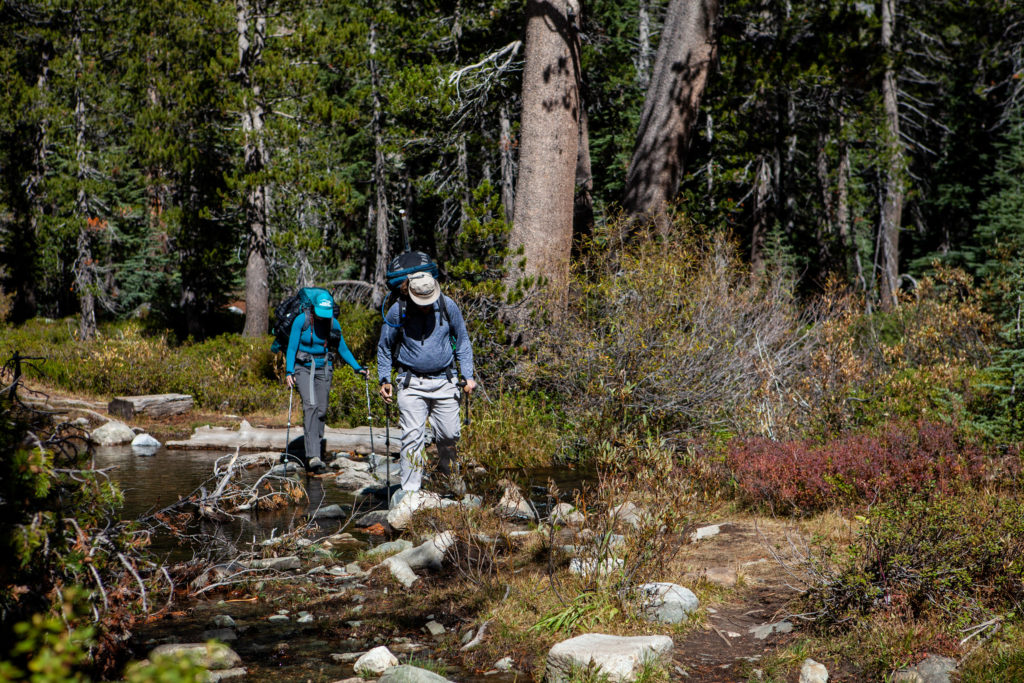
[[[940,615],[950,630],[1024,600],[1024,501],[988,494],[914,497],[867,513],[845,551],[812,562],[819,617]]]

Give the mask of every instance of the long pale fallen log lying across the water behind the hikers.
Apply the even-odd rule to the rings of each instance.
[[[395,429],[394,432],[398,430]],[[211,427],[204,425],[197,427],[193,435],[184,441],[168,441],[165,445],[168,449],[242,449],[243,451],[284,451],[286,438],[292,439],[302,436],[302,427],[292,427],[291,433],[282,428],[253,427],[243,420],[238,429],[227,427]],[[398,453],[398,433],[391,434],[391,453]],[[328,427],[324,430],[324,437],[327,439],[328,451],[348,451],[350,453],[370,453],[370,428],[356,427],[355,429],[334,429]],[[384,453],[384,430],[374,430],[374,451]]]

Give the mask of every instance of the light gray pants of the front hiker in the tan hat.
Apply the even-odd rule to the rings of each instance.
[[[459,420],[459,387],[443,377],[426,379],[412,377],[403,386],[403,375],[398,376],[398,426],[401,427],[401,487],[419,490],[423,485],[426,466],[427,420],[434,430],[437,444],[437,471],[442,476],[452,474],[455,464],[455,446],[462,433]]]

